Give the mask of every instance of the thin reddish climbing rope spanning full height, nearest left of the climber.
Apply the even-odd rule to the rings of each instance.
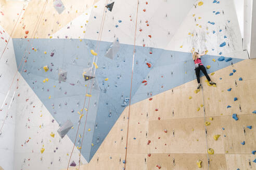
[[[127,149],[128,149],[128,136],[129,136],[129,124],[130,124],[131,101],[132,101],[132,85],[133,85],[133,67],[134,67],[134,55],[135,55],[136,33],[137,33],[137,20],[138,20],[138,6],[139,6],[139,1],[137,1],[135,34],[134,34],[134,44],[133,44],[133,62],[132,62],[132,75],[131,75],[131,89],[130,89],[129,111],[128,111],[128,117],[127,117],[128,120],[127,120],[127,133],[126,133],[126,148],[125,148],[124,169],[126,168]]]

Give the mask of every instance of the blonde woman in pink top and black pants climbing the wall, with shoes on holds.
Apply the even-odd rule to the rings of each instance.
[[[204,51],[202,54],[199,54],[198,52],[195,52],[195,50],[191,50],[192,52],[192,56],[193,56],[193,60],[195,63],[195,70],[196,70],[196,76],[197,76],[197,82],[198,82],[198,86],[197,89],[199,89],[201,87],[201,83],[200,83],[200,70],[202,70],[202,73],[206,76],[207,80],[209,81],[210,84],[216,84],[214,82],[211,81],[210,77],[207,74],[206,71],[206,67],[203,66],[202,61],[201,61],[201,56],[203,56],[204,54],[206,54],[206,51]]]

